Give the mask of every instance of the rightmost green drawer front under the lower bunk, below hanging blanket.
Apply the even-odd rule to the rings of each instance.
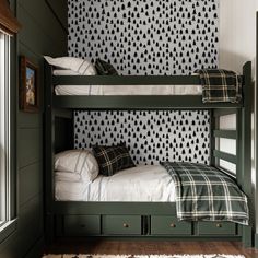
[[[236,225],[232,222],[198,222],[199,235],[235,235]]]

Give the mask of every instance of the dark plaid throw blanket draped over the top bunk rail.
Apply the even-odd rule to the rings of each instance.
[[[242,82],[235,72],[221,69],[202,69],[197,72],[202,85],[203,103],[241,101]]]

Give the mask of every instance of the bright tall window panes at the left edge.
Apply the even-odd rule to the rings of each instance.
[[[0,32],[0,230],[11,221],[10,36]]]

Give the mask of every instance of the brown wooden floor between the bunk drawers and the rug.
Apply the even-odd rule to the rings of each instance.
[[[239,242],[172,242],[172,241],[59,241],[46,248],[46,254],[107,255],[174,255],[226,254],[258,258],[258,249],[244,248]]]

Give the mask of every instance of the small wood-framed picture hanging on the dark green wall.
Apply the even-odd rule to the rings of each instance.
[[[26,57],[20,57],[20,109],[38,112],[38,68]]]

